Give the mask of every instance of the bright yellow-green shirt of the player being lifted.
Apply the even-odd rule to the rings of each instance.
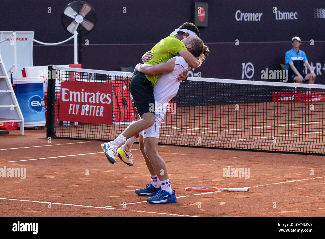
[[[174,56],[179,56],[177,52],[181,50],[187,50],[184,43],[178,40],[176,36],[168,36],[162,39],[156,46],[151,49],[153,58],[145,62],[145,64],[157,65],[162,62],[167,62]],[[151,81],[153,87],[155,87],[157,79],[160,75],[161,73],[157,75],[146,75],[146,77],[149,81]]]

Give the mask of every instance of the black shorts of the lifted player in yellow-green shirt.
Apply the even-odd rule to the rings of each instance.
[[[144,113],[153,113],[152,105],[155,103],[155,96],[153,94],[153,86],[145,74],[137,72],[130,80],[130,92],[132,94],[136,109],[140,116]]]

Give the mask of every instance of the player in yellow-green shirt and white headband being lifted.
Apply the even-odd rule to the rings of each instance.
[[[146,61],[145,64],[156,65],[167,62],[175,56],[181,56],[191,68],[198,68],[199,62],[197,57],[193,56],[181,41],[184,36],[189,35],[199,36],[200,32],[193,23],[184,23],[179,29],[176,29],[170,36],[162,39],[150,50],[154,58]],[[155,112],[150,109],[150,105],[155,103],[153,88],[160,75],[161,73],[149,75],[137,72],[132,76],[130,80],[130,92],[141,120],[127,127],[124,132],[112,142],[101,145],[110,163],[114,164],[116,162],[115,155],[117,149],[125,140],[134,137],[155,123]]]

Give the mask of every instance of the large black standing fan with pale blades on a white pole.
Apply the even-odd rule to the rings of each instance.
[[[75,1],[68,4],[62,13],[61,22],[64,29],[73,35],[78,32],[78,62],[82,60],[82,36],[89,34],[97,22],[95,9],[86,2]]]

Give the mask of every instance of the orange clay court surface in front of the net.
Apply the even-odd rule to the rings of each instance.
[[[178,203],[151,205],[147,197],[134,193],[150,183],[139,145],[133,146],[130,167],[118,158],[110,164],[101,143],[67,139],[48,143],[46,130],[1,135],[0,168],[26,168],[24,180],[0,178],[1,215],[325,216],[323,156],[159,145]],[[223,177],[228,166],[250,168],[250,178]],[[250,189],[185,191],[190,186]]]

